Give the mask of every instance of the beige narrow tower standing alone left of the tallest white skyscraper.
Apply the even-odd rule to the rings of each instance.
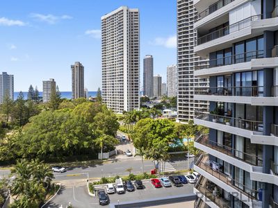
[[[81,62],[75,62],[72,68],[72,99],[84,97],[84,67]]]

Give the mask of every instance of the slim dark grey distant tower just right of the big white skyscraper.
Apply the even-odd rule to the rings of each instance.
[[[152,55],[146,55],[144,58],[143,73],[143,94],[152,98],[153,95],[153,77],[154,77],[154,58]]]

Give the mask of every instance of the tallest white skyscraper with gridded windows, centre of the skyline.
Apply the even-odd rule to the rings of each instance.
[[[114,112],[140,107],[139,10],[122,6],[101,17],[102,101]]]

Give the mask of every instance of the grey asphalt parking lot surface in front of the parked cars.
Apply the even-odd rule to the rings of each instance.
[[[193,193],[194,184],[183,184],[183,187],[162,187],[154,188],[150,181],[143,182],[145,189],[136,190],[133,192],[128,192],[124,194],[110,194],[111,204],[117,204],[121,202],[134,202],[138,200],[148,200],[155,198],[163,198],[169,196],[179,196],[183,194]],[[105,189],[105,187],[98,187],[98,189]],[[86,208],[86,207],[109,207],[109,205],[101,206],[99,205],[99,200],[97,196],[89,196],[87,186],[72,186],[63,187],[59,191],[58,195],[49,202],[46,207],[66,207],[69,202],[74,207]]]

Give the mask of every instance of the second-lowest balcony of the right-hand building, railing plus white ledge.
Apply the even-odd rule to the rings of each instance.
[[[238,197],[241,196],[240,200],[244,200],[245,202],[250,202],[250,199],[256,200],[259,191],[250,189],[249,187],[246,187],[244,184],[240,184],[240,182],[229,177],[229,175],[225,175],[224,173],[211,168],[211,166],[209,166],[209,164],[207,163],[208,163],[208,155],[201,155],[199,159],[197,159],[197,162],[195,163],[195,166],[197,166],[196,171],[201,169],[202,172],[204,171],[206,173],[206,175],[207,174],[210,175],[209,177],[212,176],[211,178],[208,178],[208,180],[211,180],[213,183],[217,184],[225,191],[228,192],[237,191],[239,193],[242,193],[237,195]],[[201,173],[201,175],[204,174]],[[204,175],[204,177],[206,177],[206,175]],[[247,200],[244,199],[244,196],[245,198],[247,198]],[[248,203],[248,205],[250,204]]]

